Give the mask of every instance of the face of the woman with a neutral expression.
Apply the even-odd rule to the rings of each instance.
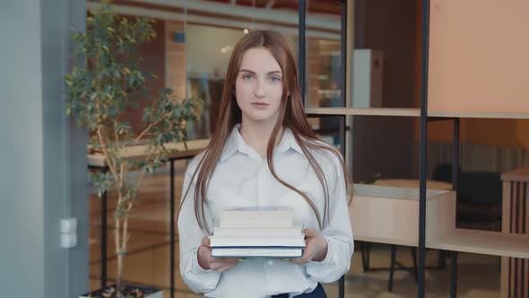
[[[235,81],[235,97],[242,123],[273,125],[282,100],[282,71],[267,48],[243,54]]]

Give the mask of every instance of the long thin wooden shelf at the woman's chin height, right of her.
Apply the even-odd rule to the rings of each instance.
[[[421,116],[419,109],[401,108],[306,108],[305,112],[313,115]]]

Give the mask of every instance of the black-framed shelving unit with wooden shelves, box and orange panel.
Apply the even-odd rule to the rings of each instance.
[[[417,296],[420,298],[426,293],[426,248],[451,251],[451,297],[456,297],[459,251],[529,259],[529,235],[455,228],[455,190],[428,189],[426,181],[429,121],[447,120],[454,123],[452,189],[456,189],[460,118],[529,118],[529,101],[526,100],[529,89],[524,83],[525,66],[529,66],[529,58],[525,53],[529,51],[529,44],[519,37],[523,36],[523,28],[529,26],[529,19],[509,17],[527,10],[529,3],[525,2],[498,6],[481,0],[422,0],[420,109],[305,110],[309,116],[338,116],[342,119],[359,115],[420,118],[419,187],[355,185],[355,197],[350,209],[355,240],[419,248]],[[468,25],[469,13],[473,15],[473,23],[479,23],[479,26]],[[490,22],[498,20],[499,16],[508,21],[500,25]],[[505,28],[499,28],[501,26]],[[505,45],[514,51],[513,56],[499,57],[498,53],[506,51]],[[346,65],[343,63],[344,68]],[[478,73],[472,75],[473,72]],[[343,69],[343,74],[346,73],[350,72]],[[345,78],[344,82],[347,82]],[[514,91],[516,88],[517,91]],[[342,96],[345,96],[344,93]],[[345,99],[343,103],[345,106]],[[344,130],[345,121],[342,121],[341,131]],[[516,176],[516,172],[512,174]],[[529,175],[524,176],[523,181],[529,181],[527,177]],[[529,290],[525,293],[522,290],[521,294],[529,294]]]

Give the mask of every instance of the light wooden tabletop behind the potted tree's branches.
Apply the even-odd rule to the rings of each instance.
[[[200,140],[191,140],[187,141],[187,149],[183,143],[171,143],[167,144],[166,147],[168,150],[177,150],[175,153],[170,153],[169,158],[186,158],[193,157],[197,153],[200,153],[205,149],[209,144],[210,139],[200,139]],[[127,146],[126,149],[121,154],[122,157],[126,158],[140,158],[147,154],[147,145],[134,145]],[[87,154],[86,158],[88,160],[88,165],[93,167],[104,167],[105,156],[102,153],[92,153]]]

